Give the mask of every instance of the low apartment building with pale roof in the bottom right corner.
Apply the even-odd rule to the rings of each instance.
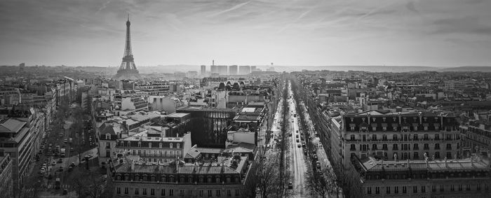
[[[489,197],[490,163],[464,160],[352,159],[349,190],[355,197]]]

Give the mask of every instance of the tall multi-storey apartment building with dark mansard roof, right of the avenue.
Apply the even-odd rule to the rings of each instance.
[[[459,122],[453,113],[365,111],[343,115],[344,167],[350,158],[420,160],[461,156]]]

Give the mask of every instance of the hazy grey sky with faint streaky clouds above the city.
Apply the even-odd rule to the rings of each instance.
[[[1,0],[0,64],[491,65],[489,0]]]

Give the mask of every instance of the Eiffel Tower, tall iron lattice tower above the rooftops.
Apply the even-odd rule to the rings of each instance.
[[[118,73],[114,76],[116,80],[136,80],[140,78],[140,73],[136,69],[133,53],[131,52],[131,36],[130,36],[130,15],[126,21],[126,44],[124,46],[123,62],[119,66]]]

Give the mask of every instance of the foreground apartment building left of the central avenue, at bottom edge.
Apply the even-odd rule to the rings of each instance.
[[[243,197],[249,168],[240,155],[211,163],[135,161],[122,158],[110,167],[112,197]]]

